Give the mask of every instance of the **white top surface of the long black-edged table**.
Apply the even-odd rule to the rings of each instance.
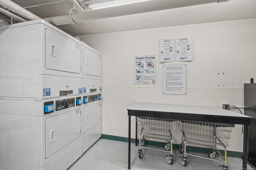
[[[213,115],[213,116],[227,116],[227,117],[230,116],[230,117],[241,117],[241,118],[251,119],[251,117],[247,115],[242,115],[233,111],[222,109],[220,107],[210,107],[210,106],[134,103],[127,110],[192,113],[192,114],[199,114],[199,115]]]

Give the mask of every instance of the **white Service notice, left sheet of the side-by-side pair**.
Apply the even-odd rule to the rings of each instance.
[[[175,61],[175,40],[160,39],[160,62]]]

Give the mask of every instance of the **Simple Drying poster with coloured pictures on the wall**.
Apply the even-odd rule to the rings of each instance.
[[[156,84],[156,56],[135,56],[135,84]]]

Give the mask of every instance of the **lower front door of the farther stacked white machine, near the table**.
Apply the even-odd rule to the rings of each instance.
[[[101,121],[100,102],[84,106],[84,133],[98,125]]]

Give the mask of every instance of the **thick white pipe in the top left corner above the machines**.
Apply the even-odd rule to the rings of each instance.
[[[36,16],[32,12],[29,12],[28,10],[22,8],[18,4],[15,4],[11,0],[0,0],[0,5],[4,8],[7,8],[11,10],[12,12],[28,19],[28,20],[38,20],[41,19],[40,17]]]

